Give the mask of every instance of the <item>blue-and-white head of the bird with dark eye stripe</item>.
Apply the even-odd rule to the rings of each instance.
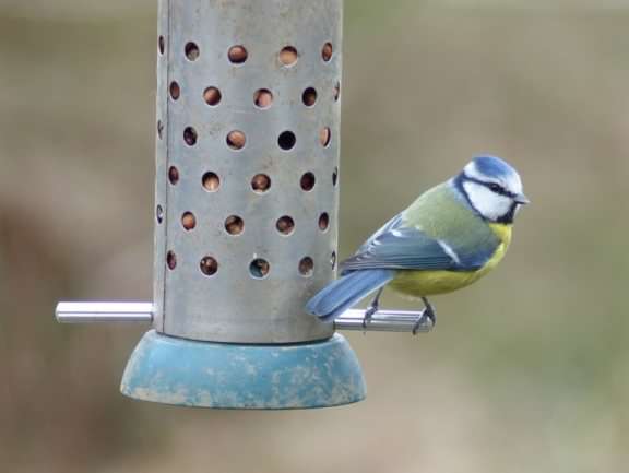
[[[484,218],[512,223],[529,199],[522,192],[518,172],[496,156],[477,156],[455,178],[456,188]]]

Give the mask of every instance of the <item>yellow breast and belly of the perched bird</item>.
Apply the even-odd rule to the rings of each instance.
[[[489,261],[476,271],[399,271],[389,286],[403,295],[411,297],[444,294],[465,287],[489,271],[505,257],[511,243],[511,225],[489,224],[501,244]]]

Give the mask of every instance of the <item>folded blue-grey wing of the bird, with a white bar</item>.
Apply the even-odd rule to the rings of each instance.
[[[371,236],[349,259],[342,272],[355,270],[449,270],[475,271],[496,251],[497,238],[452,247],[415,227],[405,227],[400,215]]]

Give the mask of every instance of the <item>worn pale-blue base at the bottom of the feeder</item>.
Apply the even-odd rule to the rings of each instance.
[[[343,335],[292,345],[195,342],[150,330],[120,390],[142,401],[222,409],[309,409],[365,399],[365,380]]]

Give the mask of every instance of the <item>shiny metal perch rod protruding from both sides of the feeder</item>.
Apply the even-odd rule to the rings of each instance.
[[[365,312],[349,309],[334,321],[339,330],[379,331],[379,332],[412,332],[422,319],[422,312],[406,310],[381,310],[376,312],[371,321],[363,327]],[[145,322],[153,321],[153,304],[151,303],[59,303],[55,317],[62,323],[90,322]],[[429,332],[432,329],[430,319],[423,319],[417,332]]]

